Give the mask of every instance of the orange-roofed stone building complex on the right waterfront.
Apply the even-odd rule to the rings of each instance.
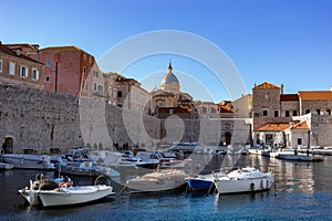
[[[271,146],[331,146],[332,91],[283,94],[262,83],[252,88],[253,140]]]

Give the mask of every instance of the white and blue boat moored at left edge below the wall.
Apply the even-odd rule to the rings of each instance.
[[[51,156],[49,155],[3,154],[0,158],[3,162],[13,165],[13,167],[18,169],[55,169],[54,164],[51,162]]]

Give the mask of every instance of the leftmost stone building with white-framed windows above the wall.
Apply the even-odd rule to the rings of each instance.
[[[44,65],[0,42],[0,83],[43,90]]]

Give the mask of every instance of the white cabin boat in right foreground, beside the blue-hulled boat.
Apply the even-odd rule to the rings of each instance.
[[[272,172],[261,172],[251,167],[234,170],[226,176],[215,177],[215,186],[219,194],[268,190],[273,181]]]

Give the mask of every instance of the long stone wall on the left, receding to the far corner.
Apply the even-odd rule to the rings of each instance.
[[[0,84],[0,143],[23,149],[153,145],[159,119],[72,95]],[[142,130],[146,131],[142,136]]]

